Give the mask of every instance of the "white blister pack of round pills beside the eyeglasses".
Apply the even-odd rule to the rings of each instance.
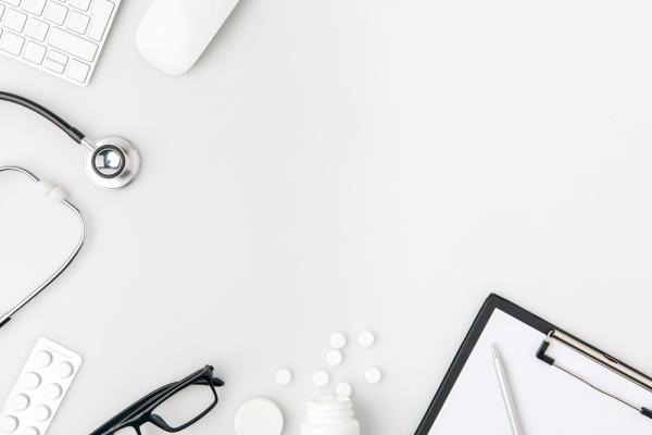
[[[45,435],[80,365],[77,353],[40,338],[0,411],[0,434]]]

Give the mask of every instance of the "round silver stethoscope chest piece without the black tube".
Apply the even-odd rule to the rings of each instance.
[[[93,145],[86,158],[86,172],[95,184],[105,189],[127,187],[140,171],[138,149],[120,136],[106,137]]]

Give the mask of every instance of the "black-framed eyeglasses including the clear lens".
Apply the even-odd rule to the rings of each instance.
[[[217,387],[224,382],[206,365],[190,376],[167,384],[102,424],[91,435],[142,435],[151,423],[165,432],[180,432],[206,415],[220,401]]]

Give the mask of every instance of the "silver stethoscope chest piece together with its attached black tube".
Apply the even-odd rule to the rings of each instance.
[[[136,179],[140,170],[140,154],[127,139],[110,136],[93,142],[59,115],[27,98],[0,91],[0,100],[33,110],[65,132],[75,142],[86,147],[86,172],[100,187],[122,189]]]

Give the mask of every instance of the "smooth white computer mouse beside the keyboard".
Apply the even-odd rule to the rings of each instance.
[[[239,0],[153,0],[136,44],[156,69],[180,75],[192,67]]]

